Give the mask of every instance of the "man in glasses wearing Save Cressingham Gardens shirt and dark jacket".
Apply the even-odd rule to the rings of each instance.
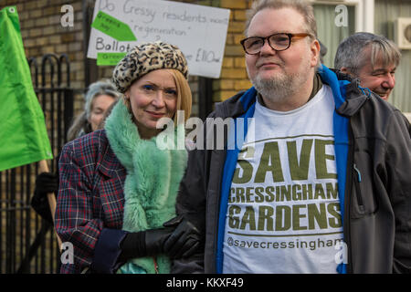
[[[172,271],[409,273],[408,121],[321,65],[309,3],[256,1],[245,35],[253,87],[216,104],[225,147],[189,152],[177,198],[204,253]]]

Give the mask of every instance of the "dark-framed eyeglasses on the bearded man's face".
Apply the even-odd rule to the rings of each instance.
[[[244,51],[248,55],[257,55],[261,51],[261,47],[264,47],[266,39],[269,40],[269,47],[276,51],[284,51],[291,46],[291,40],[293,38],[304,38],[311,36],[310,34],[286,34],[279,33],[271,36],[251,36],[244,38],[240,41],[244,48]]]

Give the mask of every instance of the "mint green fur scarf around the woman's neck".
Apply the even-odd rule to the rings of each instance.
[[[122,229],[138,232],[162,227],[175,216],[175,198],[187,164],[187,152],[159,150],[156,137],[141,139],[122,101],[112,109],[104,128],[111,149],[127,170]],[[166,255],[157,255],[156,261],[159,273],[170,273]],[[153,257],[134,258],[121,266],[120,272],[155,273]]]

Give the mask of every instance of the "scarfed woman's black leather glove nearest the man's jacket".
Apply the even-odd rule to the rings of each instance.
[[[201,233],[183,215],[179,215],[163,224],[164,227],[175,227],[174,233],[164,242],[164,253],[171,258],[194,255],[201,243]]]

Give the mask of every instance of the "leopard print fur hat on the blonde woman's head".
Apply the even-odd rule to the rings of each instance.
[[[112,81],[119,92],[124,93],[132,82],[156,69],[176,69],[188,78],[187,60],[183,52],[163,42],[144,43],[132,48],[121,59],[112,74]]]

